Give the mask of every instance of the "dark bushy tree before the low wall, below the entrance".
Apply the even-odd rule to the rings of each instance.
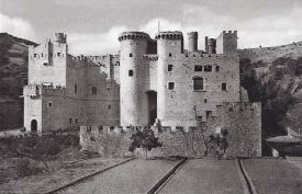
[[[136,148],[142,148],[146,158],[148,156],[148,151],[153,148],[161,147],[158,138],[155,137],[153,129],[149,127],[145,127],[143,130],[137,129],[135,134],[132,135],[131,139],[132,142],[128,150],[133,152]]]

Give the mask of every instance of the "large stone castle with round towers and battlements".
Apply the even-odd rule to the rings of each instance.
[[[120,54],[105,56],[69,55],[63,33],[31,46],[23,89],[26,130],[156,124],[189,132],[208,123],[214,132],[232,125],[231,133],[248,132],[253,156],[261,155],[260,104],[248,103],[241,88],[236,31],[205,36],[204,50],[198,49],[197,32],[188,33],[188,49],[178,31],[155,38],[124,32],[119,42]],[[242,130],[243,123],[250,125]]]

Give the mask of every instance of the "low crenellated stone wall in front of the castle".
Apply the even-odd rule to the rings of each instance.
[[[216,142],[209,142],[210,135],[216,136],[217,129],[227,129],[228,157],[261,156],[261,105],[260,103],[223,104],[217,115],[201,127],[163,126],[153,127],[163,147],[153,149],[152,156],[203,157],[214,156]],[[80,145],[83,150],[104,156],[127,156],[131,136],[135,129],[109,126],[82,126]],[[204,142],[209,142],[206,146]],[[141,155],[139,149],[136,155]]]

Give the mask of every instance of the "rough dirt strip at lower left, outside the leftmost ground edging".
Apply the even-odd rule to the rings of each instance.
[[[92,158],[80,160],[51,173],[40,173],[23,179],[10,180],[7,183],[0,184],[0,194],[45,193],[124,160],[126,160],[126,158]]]

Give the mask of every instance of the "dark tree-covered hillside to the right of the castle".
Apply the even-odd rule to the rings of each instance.
[[[239,49],[242,84],[250,101],[262,102],[264,137],[299,132],[302,121],[302,42]],[[294,113],[293,116],[292,113]]]

